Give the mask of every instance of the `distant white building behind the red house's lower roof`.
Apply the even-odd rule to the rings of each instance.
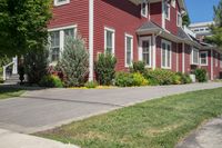
[[[212,36],[210,26],[213,23],[214,23],[213,21],[196,22],[196,23],[191,23],[189,28],[196,34],[198,38],[204,38],[206,36]]]

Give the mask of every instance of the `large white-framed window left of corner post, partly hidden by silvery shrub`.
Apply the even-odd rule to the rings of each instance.
[[[49,29],[49,43],[50,43],[50,51],[49,51],[49,59],[50,62],[57,62],[60,57],[61,52],[65,46],[65,39],[68,37],[74,38],[77,34],[77,26],[69,26],[62,28],[54,28]]]

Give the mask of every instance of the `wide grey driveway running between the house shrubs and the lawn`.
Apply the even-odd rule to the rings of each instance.
[[[31,134],[154,98],[219,87],[222,83],[29,91],[20,98],[0,101],[0,128]]]

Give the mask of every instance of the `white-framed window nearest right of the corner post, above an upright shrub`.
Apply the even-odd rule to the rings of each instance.
[[[115,30],[104,28],[104,51],[114,55]]]

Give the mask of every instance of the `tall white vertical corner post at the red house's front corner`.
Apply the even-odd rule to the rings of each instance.
[[[94,0],[89,0],[89,81],[93,81]]]

